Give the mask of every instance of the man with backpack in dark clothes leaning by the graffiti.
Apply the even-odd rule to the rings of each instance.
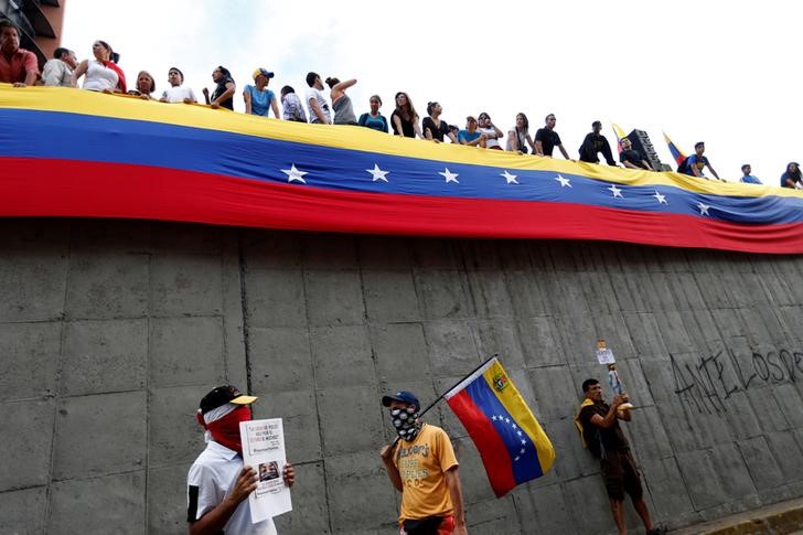
[[[599,381],[589,378],[582,383],[586,398],[575,418],[582,442],[588,450],[600,459],[602,477],[606,480],[608,497],[611,502],[613,521],[620,535],[625,535],[624,493],[630,494],[635,511],[644,523],[646,535],[662,535],[665,529],[655,527],[643,497],[641,478],[635,467],[635,459],[630,452],[628,442],[619,420],[630,421],[630,410],[620,406],[628,403],[628,396],[620,394],[610,405],[602,399],[602,386]]]

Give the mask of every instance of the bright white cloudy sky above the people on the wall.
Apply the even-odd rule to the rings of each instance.
[[[554,113],[572,158],[599,119],[612,145],[611,122],[646,130],[674,165],[665,130],[686,154],[705,141],[722,178],[738,180],[751,163],[778,184],[803,158],[802,15],[794,0],[69,0],[63,45],[86,58],[103,39],[121,54],[130,86],[147,69],[158,92],[178,66],[200,98],[222,64],[239,111],[251,72],[265,67],[277,94],[291,85],[302,95],[309,71],[357,78],[349,90],[357,115],[376,93],[389,117],[398,90],[421,117],[438,100],[461,128],[488,111],[506,132],[524,111],[534,133]]]

